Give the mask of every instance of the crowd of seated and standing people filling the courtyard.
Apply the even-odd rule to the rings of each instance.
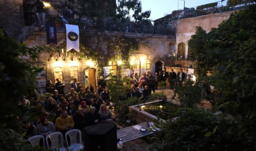
[[[146,102],[151,92],[154,93],[158,89],[158,82],[167,81],[167,79],[170,83],[170,89],[174,90],[175,95],[175,81],[178,84],[183,83],[185,73],[180,69],[176,76],[173,70],[168,73],[165,68],[159,74],[155,73],[155,75],[152,75],[149,71],[139,77],[135,73],[134,76],[131,75],[130,83],[124,83],[128,87],[131,85],[131,88],[127,89],[126,98],[122,98],[120,101],[131,97],[141,97]],[[65,133],[71,129],[82,130],[87,126],[112,121],[112,114],[107,109],[107,106],[111,103],[111,98],[103,77],[100,77],[97,89],[93,88],[91,84],[84,87],[83,84],[77,82],[77,79],[73,79],[70,83],[70,92],[66,94],[64,93],[65,84],[60,79],[56,79],[56,81],[53,84],[51,80],[48,80],[46,92],[51,93],[51,95],[43,101],[38,97],[30,101],[26,100],[26,96],[21,97],[21,105],[29,108],[28,115],[33,112],[41,113],[38,115],[37,122],[34,122],[38,124],[30,125],[28,120],[23,121],[27,129],[25,137],[33,135],[47,136],[54,131],[60,131],[65,136]],[[113,103],[111,104],[113,105]],[[47,119],[50,114],[55,115],[52,122]]]

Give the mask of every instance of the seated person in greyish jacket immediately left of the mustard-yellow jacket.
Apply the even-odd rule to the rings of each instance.
[[[48,121],[47,118],[41,119],[41,124],[37,126],[37,134],[46,137],[48,134],[55,132],[55,126],[53,122]]]

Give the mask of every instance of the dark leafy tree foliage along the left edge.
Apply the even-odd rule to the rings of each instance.
[[[28,108],[19,105],[19,97],[32,96],[35,77],[43,68],[32,63],[43,48],[28,48],[14,39],[0,34],[0,148],[5,150],[33,150],[26,144],[21,134],[21,120]],[[25,58],[25,59],[24,59]],[[29,59],[27,59],[29,58]],[[28,149],[30,148],[30,149]]]

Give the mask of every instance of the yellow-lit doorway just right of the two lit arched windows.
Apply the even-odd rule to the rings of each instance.
[[[84,86],[92,84],[92,87],[96,90],[96,69],[89,68],[84,70]]]

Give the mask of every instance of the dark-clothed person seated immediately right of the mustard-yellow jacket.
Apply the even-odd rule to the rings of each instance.
[[[82,130],[86,128],[86,112],[82,108],[79,108],[77,113],[73,115],[73,120],[75,122],[75,129]]]

